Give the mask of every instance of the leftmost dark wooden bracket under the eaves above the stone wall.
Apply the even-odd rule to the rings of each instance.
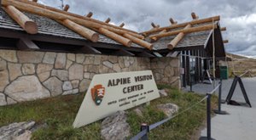
[[[20,38],[19,42],[16,44],[17,48],[20,50],[38,50],[38,45],[36,45],[32,40],[28,38]]]

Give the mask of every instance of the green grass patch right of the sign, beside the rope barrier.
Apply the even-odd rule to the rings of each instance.
[[[159,88],[168,88],[168,97],[160,98],[151,102],[150,106],[143,109],[144,117],[138,117],[134,111],[129,111],[128,122],[132,128],[132,134],[135,135],[139,132],[139,126],[141,123],[153,124],[154,122],[163,120],[166,116],[156,109],[156,104],[172,103],[179,106],[179,112],[183,109],[189,108],[192,104],[197,103],[204,98],[202,95],[195,93],[183,93],[177,89],[172,89],[166,85],[159,85]],[[212,98],[212,108],[216,108],[217,97]],[[146,116],[146,117],[145,117]],[[152,132],[149,132],[149,139],[168,139],[168,140],[190,140],[198,139],[195,135],[199,132],[200,127],[204,125],[206,120],[206,102],[195,106],[195,108],[185,112],[181,115],[177,115],[173,120],[169,120],[162,126],[155,128]]]

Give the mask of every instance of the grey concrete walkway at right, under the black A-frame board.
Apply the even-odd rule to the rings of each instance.
[[[227,97],[232,79],[223,81],[222,99]],[[222,110],[230,115],[216,115],[212,118],[212,138],[216,140],[255,140],[256,139],[256,77],[243,78],[247,96],[253,108],[222,104]],[[210,92],[212,85],[197,84],[193,87],[195,92]],[[189,87],[184,90],[189,90]],[[236,86],[232,100],[245,103],[239,84]],[[201,136],[207,136],[207,129],[201,131]]]

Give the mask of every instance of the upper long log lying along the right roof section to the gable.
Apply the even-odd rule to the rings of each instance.
[[[220,17],[219,16],[214,16],[214,17],[210,17],[210,18],[207,18],[207,19],[192,20],[192,21],[185,22],[185,23],[182,23],[182,24],[169,25],[169,26],[166,26],[166,27],[155,28],[155,29],[152,29],[150,31],[144,31],[144,32],[141,32],[141,34],[143,34],[144,36],[147,36],[148,34],[163,31],[165,29],[167,31],[169,31],[169,30],[172,30],[172,29],[175,29],[175,28],[185,27],[186,25],[189,25],[189,24],[190,25],[197,25],[197,24],[201,24],[201,23],[212,22],[212,20],[213,21],[218,21],[218,20],[220,20]]]

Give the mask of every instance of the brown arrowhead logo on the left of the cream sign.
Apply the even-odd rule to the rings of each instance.
[[[105,94],[105,87],[102,85],[96,85],[95,87],[90,89],[91,98],[95,102],[96,105],[102,104],[102,99]]]

